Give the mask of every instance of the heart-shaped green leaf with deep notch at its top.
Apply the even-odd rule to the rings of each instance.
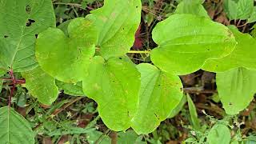
[[[94,56],[98,32],[86,18],[75,18],[68,26],[69,37],[56,28],[38,35],[38,64],[50,76],[62,82],[79,82]]]

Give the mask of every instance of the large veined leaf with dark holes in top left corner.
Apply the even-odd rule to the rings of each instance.
[[[0,0],[0,69],[21,72],[37,66],[36,34],[55,26],[51,0]]]

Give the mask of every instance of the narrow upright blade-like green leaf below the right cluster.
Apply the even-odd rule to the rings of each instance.
[[[190,98],[190,95],[187,95],[187,102],[189,104],[189,110],[190,110],[190,118],[191,118],[191,124],[193,126],[193,128],[195,130],[200,130],[201,126],[200,126],[200,122],[198,119],[198,113],[197,113],[197,109],[194,106],[194,102],[192,101],[192,99]]]

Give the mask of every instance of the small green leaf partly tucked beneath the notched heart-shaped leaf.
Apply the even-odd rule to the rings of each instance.
[[[34,70],[22,73],[26,79],[26,89],[34,98],[45,105],[51,105],[58,97],[58,87],[55,85],[54,78],[46,74],[38,66]]]

